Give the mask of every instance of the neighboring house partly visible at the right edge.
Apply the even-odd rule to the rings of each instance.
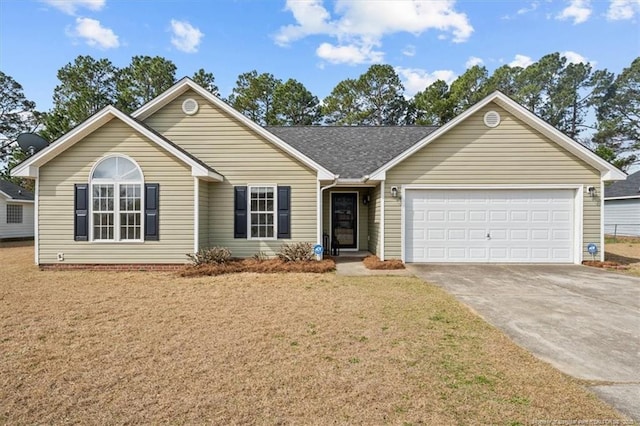
[[[604,230],[640,236],[640,170],[604,189]]]

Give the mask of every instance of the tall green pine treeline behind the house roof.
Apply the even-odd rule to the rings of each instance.
[[[37,131],[53,141],[106,105],[130,113],[171,87],[175,73],[175,64],[158,56],[135,56],[124,68],[78,56],[58,71],[53,108],[39,112],[22,86],[0,71],[0,174],[25,158],[15,144],[18,134]],[[220,96],[213,73],[200,69],[191,78]],[[476,65],[451,84],[438,80],[412,98],[405,97],[391,65],[372,65],[358,78],[340,81],[323,100],[299,81],[254,70],[239,75],[223,99],[262,125],[441,126],[494,90],[624,170],[640,160],[640,57],[618,75],[570,63],[559,53],[491,74]]]

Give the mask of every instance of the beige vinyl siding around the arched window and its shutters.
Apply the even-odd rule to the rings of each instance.
[[[74,184],[88,183],[92,166],[109,154],[135,160],[146,183],[160,185],[159,241],[74,241]],[[118,119],[96,130],[40,168],[39,257],[58,263],[184,263],[193,252],[191,169]],[[91,232],[91,230],[89,230]]]

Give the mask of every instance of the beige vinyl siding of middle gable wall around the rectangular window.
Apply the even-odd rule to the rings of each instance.
[[[193,116],[182,112],[182,102],[195,99]],[[156,131],[180,145],[224,176],[209,184],[209,244],[228,247],[233,256],[260,251],[273,255],[283,243],[316,243],[316,172],[286,154],[243,123],[187,91],[145,120]],[[291,239],[236,239],[234,186],[274,184],[291,186]]]

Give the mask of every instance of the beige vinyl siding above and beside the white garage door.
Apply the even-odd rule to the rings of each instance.
[[[488,128],[484,114],[498,111],[500,125]],[[387,172],[387,187],[397,185],[585,185],[583,252],[600,241],[600,172],[562,149],[524,122],[491,103]],[[386,198],[385,257],[401,256],[401,203]],[[589,255],[590,256],[590,255]]]

